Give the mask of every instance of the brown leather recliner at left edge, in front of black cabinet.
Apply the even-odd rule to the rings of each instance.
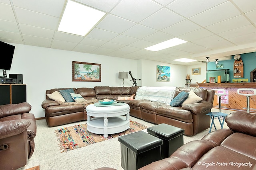
[[[36,120],[27,102],[0,106],[0,169],[25,166],[34,152]]]

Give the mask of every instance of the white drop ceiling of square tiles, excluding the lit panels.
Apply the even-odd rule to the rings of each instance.
[[[0,41],[182,65],[256,51],[256,0],[76,2],[106,13],[85,36],[57,31],[67,0],[0,0]],[[174,37],[188,43],[144,49]]]

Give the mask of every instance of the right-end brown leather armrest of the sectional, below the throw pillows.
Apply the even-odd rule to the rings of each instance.
[[[212,109],[213,105],[210,102],[198,102],[198,103],[190,103],[184,104],[181,108],[191,111],[194,114],[205,113],[205,111]]]

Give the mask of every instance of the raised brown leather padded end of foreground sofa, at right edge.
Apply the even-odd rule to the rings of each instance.
[[[256,114],[235,111],[230,113],[225,121],[232,131],[256,137]]]

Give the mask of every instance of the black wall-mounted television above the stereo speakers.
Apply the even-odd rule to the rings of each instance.
[[[11,70],[14,49],[15,46],[0,41],[0,69]]]

